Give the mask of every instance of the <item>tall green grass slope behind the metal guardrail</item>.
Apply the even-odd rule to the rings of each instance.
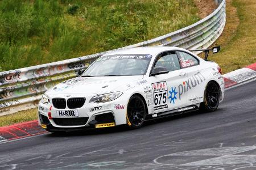
[[[193,0],[3,0],[0,67],[5,71],[94,54],[197,20]]]

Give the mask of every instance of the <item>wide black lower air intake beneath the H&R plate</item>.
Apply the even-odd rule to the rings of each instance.
[[[79,126],[85,125],[89,117],[79,118],[52,118],[56,125],[59,126]]]

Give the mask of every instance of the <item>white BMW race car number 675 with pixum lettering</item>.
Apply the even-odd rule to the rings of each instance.
[[[219,48],[203,51],[209,50]],[[132,48],[107,53],[80,76],[46,91],[38,117],[52,132],[123,124],[140,128],[153,118],[215,111],[223,97],[217,63],[182,48]]]

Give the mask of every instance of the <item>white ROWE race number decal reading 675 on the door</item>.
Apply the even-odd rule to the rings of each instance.
[[[168,88],[166,82],[152,83],[152,88],[154,95],[154,111],[158,109],[168,108]]]

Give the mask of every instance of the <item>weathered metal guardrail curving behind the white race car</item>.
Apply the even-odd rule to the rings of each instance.
[[[218,8],[199,22],[167,35],[119,49],[138,46],[208,48],[221,35],[226,23],[225,0],[214,1]],[[95,59],[108,52],[1,72],[0,116],[35,108],[45,91],[65,79],[75,77],[76,71],[88,67]]]

